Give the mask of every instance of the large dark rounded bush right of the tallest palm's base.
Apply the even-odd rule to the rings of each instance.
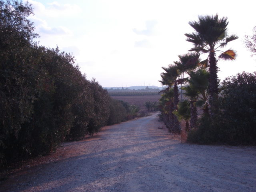
[[[242,72],[222,82],[220,112],[202,118],[188,141],[212,144],[256,145],[256,73]]]

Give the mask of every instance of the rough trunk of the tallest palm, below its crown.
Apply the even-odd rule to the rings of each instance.
[[[218,112],[218,76],[217,76],[217,61],[215,52],[209,54],[209,92],[210,92],[210,113],[211,116]]]

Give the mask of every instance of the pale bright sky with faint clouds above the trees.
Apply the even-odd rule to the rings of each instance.
[[[25,0],[24,0],[25,2]],[[256,58],[244,46],[244,36],[256,26],[256,2],[206,0],[28,0],[30,20],[40,45],[70,52],[88,80],[103,87],[161,86],[160,73],[186,54],[193,32],[189,21],[198,15],[228,17],[228,34],[238,40],[225,50],[236,50],[235,61],[218,61],[223,80],[238,72],[256,71]],[[225,4],[224,4],[225,3]],[[225,51],[223,49],[223,51]],[[201,57],[206,59],[207,55]]]

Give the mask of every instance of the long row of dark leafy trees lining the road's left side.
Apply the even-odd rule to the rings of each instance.
[[[0,166],[45,155],[132,114],[87,80],[71,54],[35,43],[30,14],[28,3],[0,0]]]

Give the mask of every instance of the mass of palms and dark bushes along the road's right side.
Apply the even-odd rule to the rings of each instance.
[[[222,50],[238,36],[228,34],[226,17],[199,16],[186,33],[193,46],[168,67],[162,67],[160,119],[170,132],[181,132],[184,120],[188,141],[200,144],[256,145],[256,74],[242,72],[220,82],[218,60],[235,60],[236,52]],[[254,28],[255,32],[255,28]],[[246,36],[246,47],[255,54],[255,35]],[[206,55],[206,59],[201,57]],[[185,75],[184,75],[185,74]],[[185,77],[184,77],[185,76]],[[186,99],[180,101],[178,85]],[[184,98],[184,97],[183,97]],[[200,115],[198,115],[200,111]]]

